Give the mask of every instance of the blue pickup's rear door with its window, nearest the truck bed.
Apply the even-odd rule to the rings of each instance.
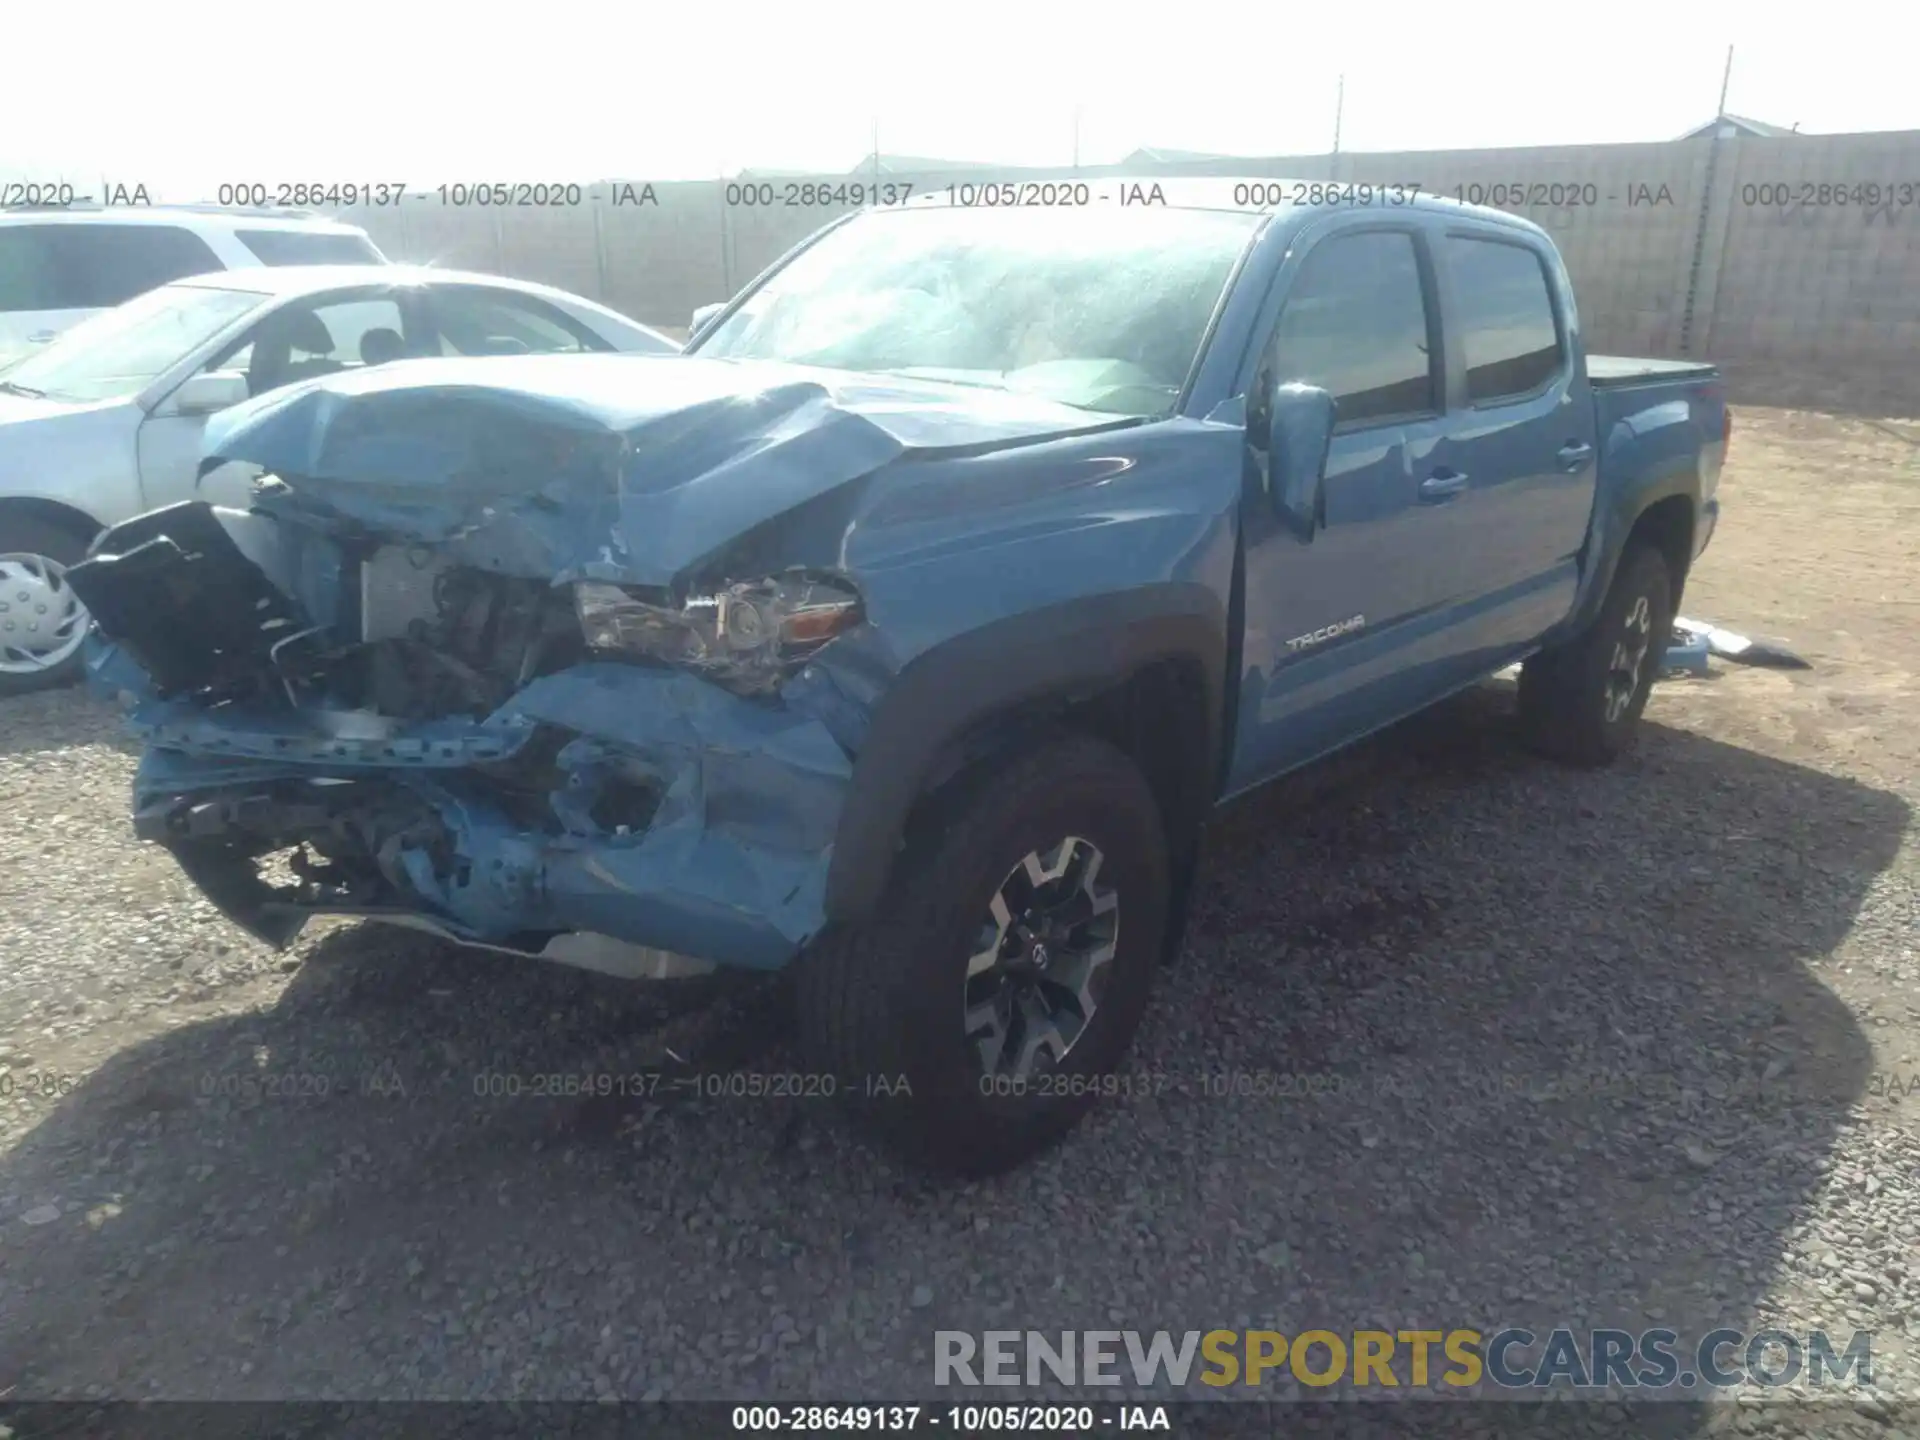
[[[1434,234],[1450,405],[1421,480],[1452,649],[1524,645],[1572,607],[1596,436],[1572,294],[1549,244],[1453,221]],[[1432,476],[1450,476],[1436,482]]]

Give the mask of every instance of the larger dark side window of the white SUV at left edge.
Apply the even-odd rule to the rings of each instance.
[[[0,227],[0,311],[109,309],[221,269],[198,234],[173,225]]]

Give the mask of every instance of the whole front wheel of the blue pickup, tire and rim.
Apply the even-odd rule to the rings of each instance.
[[[1066,737],[983,762],[933,797],[879,914],[801,960],[801,1043],[916,1164],[1010,1169],[1116,1091],[1167,902],[1125,755]]]

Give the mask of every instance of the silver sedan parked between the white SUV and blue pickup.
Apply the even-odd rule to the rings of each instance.
[[[77,324],[0,371],[0,695],[79,670],[88,622],[65,572],[104,526],[246,503],[246,467],[198,476],[215,411],[409,357],[678,349],[564,290],[411,265],[221,271]]]

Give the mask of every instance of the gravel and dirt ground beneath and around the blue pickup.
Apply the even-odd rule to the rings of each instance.
[[[877,1400],[931,1392],[937,1329],[1665,1323],[1870,1327],[1880,1394],[1920,1398],[1899,413],[1738,411],[1684,609],[1812,670],[1667,682],[1592,776],[1488,685],[1240,806],[1133,1056],[1171,1083],[985,1185],[818,1102],[488,1096],[793,1056],[753,993],[372,927],[271,954],[131,839],[106,708],[6,703],[0,1392]],[[1236,1073],[1313,1094],[1210,1092]],[[1632,1428],[1920,1415],[1738,1411]]]

